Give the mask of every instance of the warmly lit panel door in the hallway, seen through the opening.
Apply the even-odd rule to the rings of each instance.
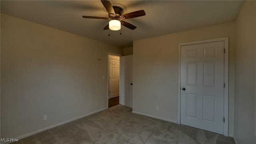
[[[120,62],[109,58],[109,98],[119,96]]]

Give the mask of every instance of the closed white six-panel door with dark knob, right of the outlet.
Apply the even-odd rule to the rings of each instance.
[[[181,124],[223,134],[224,41],[181,46]]]

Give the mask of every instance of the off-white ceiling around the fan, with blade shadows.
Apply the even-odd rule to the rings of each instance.
[[[127,12],[144,10],[146,16],[124,20],[137,28],[120,31],[103,30],[109,20],[86,19],[82,16],[108,17],[100,0],[1,0],[1,12],[25,20],[99,40],[121,48],[133,40],[161,36],[233,22],[244,1],[170,1],[110,0],[126,6]],[[111,36],[108,36],[110,32]]]

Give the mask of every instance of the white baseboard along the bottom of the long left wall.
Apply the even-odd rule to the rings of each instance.
[[[14,139],[19,139],[19,140],[20,140],[20,139],[22,139],[22,138],[26,138],[26,137],[28,137],[28,136],[32,136],[32,135],[37,134],[37,133],[39,133],[39,132],[43,132],[43,131],[45,131],[45,130],[49,130],[49,129],[51,129],[51,128],[60,126],[60,125],[62,125],[62,124],[66,124],[66,123],[68,123],[68,122],[72,122],[72,121],[77,120],[77,119],[79,119],[79,118],[83,118],[83,117],[89,116],[89,115],[91,115],[91,114],[95,114],[95,113],[97,113],[97,112],[101,112],[101,111],[106,110],[106,109],[108,109],[108,108],[103,108],[103,109],[101,109],[101,110],[96,110],[96,111],[94,111],[94,112],[90,112],[90,113],[88,113],[88,114],[85,114],[85,115],[82,115],[82,116],[78,116],[78,117],[76,117],[76,118],[72,118],[72,119],[67,120],[67,121],[65,121],[65,122],[60,122],[60,123],[58,123],[58,124],[54,124],[54,125],[52,125],[52,126],[43,128],[43,129],[41,129],[41,130],[36,130],[36,131],[34,131],[34,132],[25,134],[25,135],[23,135],[23,136],[19,136],[19,137],[14,138]],[[1,142],[1,144],[9,144],[9,143],[11,143],[11,142]]]

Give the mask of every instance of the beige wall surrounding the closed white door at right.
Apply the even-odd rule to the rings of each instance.
[[[229,37],[229,134],[234,128],[235,23],[134,41],[133,111],[177,121],[178,44]],[[159,106],[159,110],[156,110]]]

